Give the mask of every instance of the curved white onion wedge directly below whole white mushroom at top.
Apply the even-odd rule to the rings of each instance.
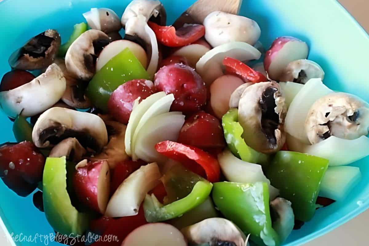
[[[222,64],[225,57],[244,62],[257,60],[260,56],[260,51],[252,45],[244,42],[230,42],[206,52],[196,63],[196,71],[203,78],[204,82],[210,85],[215,79],[224,75]]]

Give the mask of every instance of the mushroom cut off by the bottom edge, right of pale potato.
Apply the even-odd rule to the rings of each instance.
[[[235,224],[223,218],[204,219],[183,228],[181,232],[190,245],[208,243],[209,246],[245,246],[248,239]]]

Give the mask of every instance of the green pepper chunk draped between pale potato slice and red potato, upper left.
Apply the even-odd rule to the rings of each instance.
[[[107,103],[111,93],[121,84],[134,79],[150,79],[149,74],[126,48],[111,58],[90,81],[86,93],[92,103],[107,112]]]

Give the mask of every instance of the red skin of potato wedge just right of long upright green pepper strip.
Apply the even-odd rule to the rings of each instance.
[[[84,167],[78,167],[73,174],[73,187],[78,200],[99,213],[105,212],[100,210],[98,202],[99,177],[104,165],[108,163],[106,161],[89,162]],[[110,182],[110,180],[107,181]]]

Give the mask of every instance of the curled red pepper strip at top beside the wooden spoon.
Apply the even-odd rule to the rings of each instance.
[[[155,32],[158,42],[168,47],[189,45],[205,35],[205,27],[199,24],[187,25],[178,30],[173,26],[160,26],[151,21],[148,25]]]

